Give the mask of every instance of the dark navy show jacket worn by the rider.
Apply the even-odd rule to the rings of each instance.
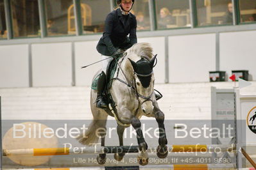
[[[132,13],[123,15],[120,8],[110,12],[105,20],[105,31],[96,49],[104,56],[112,56],[117,49],[128,49],[137,43],[137,21]],[[129,37],[128,37],[129,35]]]

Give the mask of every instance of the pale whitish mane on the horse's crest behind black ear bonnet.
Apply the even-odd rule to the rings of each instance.
[[[141,58],[150,60],[153,58],[153,49],[149,43],[135,43],[130,49],[126,50],[128,58],[138,61]]]

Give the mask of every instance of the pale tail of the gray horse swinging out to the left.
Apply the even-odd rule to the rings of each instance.
[[[92,145],[98,143],[99,134],[102,132],[102,128],[105,128],[107,120],[93,120],[88,129],[83,131],[76,139],[84,145]],[[98,133],[98,134],[96,134]]]

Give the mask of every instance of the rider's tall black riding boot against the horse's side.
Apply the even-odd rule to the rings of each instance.
[[[103,97],[103,91],[105,88],[106,84],[106,74],[104,72],[101,72],[101,75],[99,76],[98,79],[98,92],[97,92],[97,98],[96,98],[96,107],[99,108],[106,108],[107,107],[107,102],[105,102],[104,97]]]

